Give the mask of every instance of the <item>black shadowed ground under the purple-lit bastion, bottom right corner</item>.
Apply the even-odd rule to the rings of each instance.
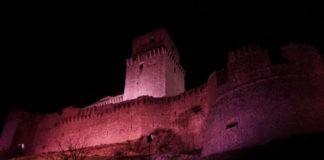
[[[324,133],[297,135],[265,145],[208,156],[206,160],[324,159]]]

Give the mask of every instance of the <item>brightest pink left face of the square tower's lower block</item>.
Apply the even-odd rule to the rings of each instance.
[[[127,63],[124,100],[139,96],[165,96],[165,50],[151,50],[147,56],[135,58]]]

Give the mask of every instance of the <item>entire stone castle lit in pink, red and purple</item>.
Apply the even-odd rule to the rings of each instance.
[[[179,150],[201,156],[324,132],[324,64],[318,50],[281,48],[285,63],[272,64],[254,45],[229,53],[227,68],[185,91],[178,50],[163,28],[133,40],[124,94],[84,108],[32,115],[12,111],[0,139],[1,155],[23,146],[26,155],[117,144],[158,129],[179,137]]]

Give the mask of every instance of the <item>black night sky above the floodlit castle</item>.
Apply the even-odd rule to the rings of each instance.
[[[49,113],[122,94],[131,40],[160,27],[179,49],[186,89],[224,68],[229,51],[250,43],[268,48],[273,59],[289,42],[323,53],[319,6],[198,1],[4,6],[1,118],[10,109]]]

